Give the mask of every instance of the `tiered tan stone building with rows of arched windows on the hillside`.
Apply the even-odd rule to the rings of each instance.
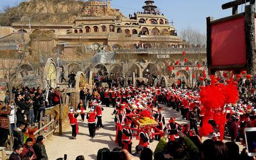
[[[121,71],[129,77],[135,73],[139,78],[146,78],[148,71],[154,75],[172,75],[178,70],[170,71],[166,66],[175,66],[177,60],[181,62],[177,67],[184,69],[185,73],[181,72],[188,79],[193,71],[200,73],[205,69],[206,49],[187,48],[168,18],[157,10],[154,1],[145,1],[143,11],[134,12],[129,17],[110,6],[109,1],[88,1],[81,10],[82,16],[70,24],[13,23],[11,28],[15,33],[5,35],[0,44],[14,35],[25,35],[29,42],[25,50],[28,57],[39,56],[39,53],[48,55],[66,75],[71,70],[83,71],[85,75],[89,75],[89,71]],[[42,33],[45,33],[44,37],[40,37]],[[99,48],[114,53],[115,62],[95,64],[90,61]],[[184,51],[189,53],[186,63],[183,62]],[[199,63],[202,67],[195,69]],[[189,70],[185,69],[187,66]]]

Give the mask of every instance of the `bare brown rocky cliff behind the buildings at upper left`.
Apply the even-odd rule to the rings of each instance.
[[[82,11],[89,2],[81,0],[31,0],[24,1],[16,7],[6,7],[5,12],[0,14],[0,25],[11,26],[11,23],[73,23],[77,17],[84,16]],[[119,10],[111,9],[112,14],[122,15]],[[98,15],[100,16],[100,15]]]

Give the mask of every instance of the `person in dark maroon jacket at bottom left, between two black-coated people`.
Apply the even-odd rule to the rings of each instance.
[[[33,140],[32,138],[27,138],[26,144],[23,145],[23,151],[20,154],[22,159],[36,159],[35,151],[32,148]]]

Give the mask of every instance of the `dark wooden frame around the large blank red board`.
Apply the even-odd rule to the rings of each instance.
[[[245,6],[245,12],[237,14],[238,5],[250,2],[250,5]],[[232,7],[232,16],[213,20],[212,17],[207,18],[207,66],[208,73],[210,75],[215,74],[218,70],[233,70],[240,72],[246,70],[248,74],[254,73],[254,60],[255,60],[255,0],[238,0],[222,5],[222,9],[228,9]],[[236,20],[244,18],[245,27],[245,57],[246,61],[243,64],[232,64],[232,65],[214,65],[212,63],[212,27],[214,24],[220,24],[228,22],[230,20]],[[229,43],[226,41],[225,43]],[[232,56],[232,53],[228,53]]]

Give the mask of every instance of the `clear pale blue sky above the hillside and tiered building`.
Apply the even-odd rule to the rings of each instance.
[[[13,6],[23,0],[0,0],[0,10],[4,6]],[[206,18],[214,19],[232,14],[232,9],[222,10],[221,5],[233,0],[155,0],[155,5],[167,17],[169,22],[173,20],[177,32],[191,27],[202,33],[206,33]],[[120,9],[125,16],[137,11],[143,11],[144,0],[112,0],[112,8]],[[244,11],[244,5],[239,12]]]

